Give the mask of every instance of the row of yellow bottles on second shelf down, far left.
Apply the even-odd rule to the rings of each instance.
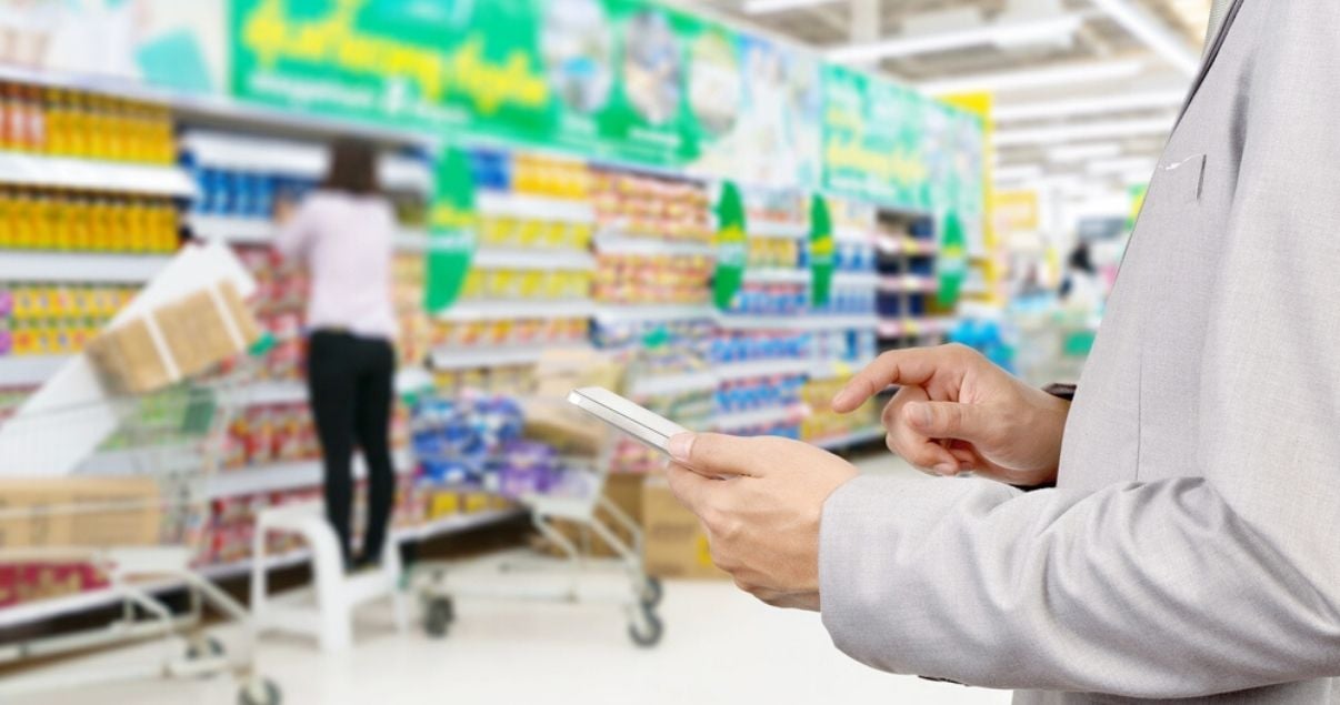
[[[177,239],[169,199],[0,189],[0,249],[166,253]]]

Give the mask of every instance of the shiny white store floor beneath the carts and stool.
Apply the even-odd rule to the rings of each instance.
[[[669,583],[665,639],[647,650],[628,641],[623,613],[608,606],[461,599],[457,613],[450,634],[434,641],[418,629],[395,634],[389,610],[371,605],[351,651],[326,656],[302,639],[267,637],[260,669],[283,688],[285,704],[302,705],[1009,701],[1008,693],[871,670],[833,649],[817,615],[775,610],[725,582]],[[115,666],[134,656],[99,661]],[[9,702],[222,705],[236,702],[236,689],[225,678],[143,681]]]

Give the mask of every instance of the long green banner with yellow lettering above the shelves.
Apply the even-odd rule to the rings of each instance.
[[[248,102],[969,219],[981,122],[650,0],[230,0]],[[976,122],[974,122],[976,120]],[[980,148],[980,144],[978,144]],[[966,181],[959,179],[966,183]],[[972,241],[972,238],[969,238]]]

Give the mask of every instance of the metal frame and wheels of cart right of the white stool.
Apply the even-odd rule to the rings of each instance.
[[[563,404],[561,400],[557,404]],[[410,569],[409,585],[422,605],[423,627],[429,635],[445,637],[456,619],[456,598],[468,597],[612,603],[626,611],[628,637],[634,643],[650,647],[661,641],[665,626],[657,606],[663,589],[661,581],[649,577],[643,567],[642,530],[604,495],[616,433],[598,423],[594,425],[596,428],[591,433],[600,440],[591,448],[592,452],[560,458],[561,472],[567,478],[564,487],[584,491],[515,495],[516,502],[529,510],[531,523],[557,557],[516,550],[473,561],[419,562]],[[417,445],[422,454],[423,445]],[[460,463],[460,458],[421,456],[419,460]],[[591,555],[563,531],[560,523],[580,535],[594,534],[614,555]],[[622,587],[610,590],[611,578],[615,586]]]

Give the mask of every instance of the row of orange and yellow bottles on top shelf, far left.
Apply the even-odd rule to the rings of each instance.
[[[21,83],[0,86],[0,150],[155,165],[177,157],[166,106]]]

